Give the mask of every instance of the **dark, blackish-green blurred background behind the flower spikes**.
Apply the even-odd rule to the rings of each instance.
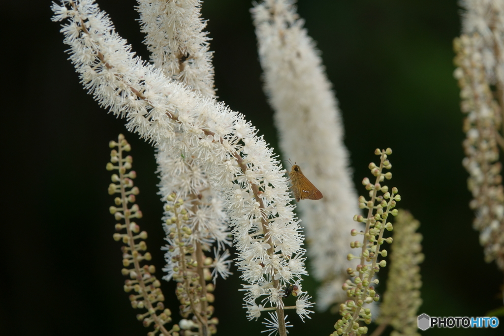
[[[98,4],[117,32],[148,59],[135,21],[136,2]],[[137,199],[144,218],[138,224],[149,233],[149,251],[161,277],[164,233],[154,150],[84,92],[64,53],[59,23],[50,21],[49,6],[49,1],[4,4],[0,334],[146,335],[152,328],[136,320],[139,311],[122,290],[121,243],[112,239],[115,220],[108,207],[113,197],[107,193],[105,165],[108,142],[124,133],[132,144],[141,192]],[[277,148],[250,7],[249,0],[203,4],[213,38],[217,94]],[[377,160],[374,149],[394,151],[390,186],[399,188],[400,207],[421,222],[424,237],[419,313],[484,316],[502,306],[502,273],[483,261],[478,233],[471,227],[468,174],[461,165],[463,116],[452,76],[452,40],[460,34],[456,0],[299,0],[298,11],[334,85],[359,194],[365,193],[360,181],[369,176],[368,163]],[[238,275],[234,269],[231,279],[217,282],[218,335],[264,330],[260,322],[246,320]],[[303,283],[312,294],[316,286],[311,278]],[[177,319],[173,283],[163,282],[162,289]],[[328,335],[339,318],[316,313],[302,323],[289,315],[292,335]],[[502,334],[503,328],[423,333],[490,335]]]

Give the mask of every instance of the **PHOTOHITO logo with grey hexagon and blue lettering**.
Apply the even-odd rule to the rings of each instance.
[[[430,317],[427,314],[418,316],[418,328],[421,330],[434,326],[438,328],[496,328],[498,325],[497,317]]]

